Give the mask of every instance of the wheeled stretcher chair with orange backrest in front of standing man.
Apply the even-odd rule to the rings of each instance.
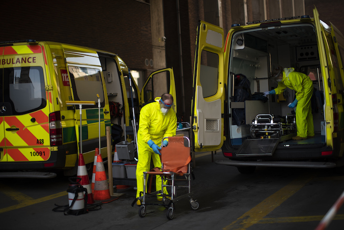
[[[191,154],[190,154],[190,139],[186,136],[164,137],[169,138],[169,144],[161,149],[161,168],[154,168],[149,172],[143,172],[143,196],[139,197],[141,206],[139,209],[139,216],[144,217],[147,213],[147,205],[161,205],[167,208],[167,218],[172,220],[174,217],[174,203],[181,198],[188,197],[191,208],[196,210],[199,208],[199,203],[194,200],[191,195]],[[163,139],[163,140],[164,140]],[[184,146],[184,139],[188,141],[188,147]],[[163,143],[163,140],[161,143]],[[161,144],[162,146],[162,144]],[[156,179],[162,180],[160,191],[153,193],[146,192],[146,178],[147,175],[156,175]],[[166,187],[164,193],[164,187]],[[177,192],[184,192],[183,195],[177,196]],[[157,200],[156,197],[162,197],[161,202],[148,202],[151,197]]]

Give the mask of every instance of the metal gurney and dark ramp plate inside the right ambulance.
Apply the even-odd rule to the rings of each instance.
[[[258,114],[250,124],[251,139],[245,139],[236,156],[272,156],[278,143],[296,135],[295,115],[274,118],[271,114]]]

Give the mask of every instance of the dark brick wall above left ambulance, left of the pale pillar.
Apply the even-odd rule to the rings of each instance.
[[[0,41],[58,41],[118,54],[132,69],[152,59],[150,5],[136,0],[1,2]]]

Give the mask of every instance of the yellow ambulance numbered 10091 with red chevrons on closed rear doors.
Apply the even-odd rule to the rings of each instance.
[[[44,172],[57,169],[76,174],[81,145],[91,170],[95,148],[101,146],[107,157],[106,127],[131,127],[129,69],[113,53],[58,42],[9,41],[0,43],[0,65],[0,177],[53,177]],[[173,70],[153,72],[141,93],[134,81],[132,88],[138,121],[142,104],[161,91],[175,98]],[[82,105],[82,133],[79,105],[66,101],[94,102]],[[109,101],[119,105],[115,117]]]

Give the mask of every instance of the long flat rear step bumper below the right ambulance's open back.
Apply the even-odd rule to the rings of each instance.
[[[233,161],[218,160],[216,164],[230,166],[267,166],[267,167],[296,167],[296,168],[334,168],[337,165],[331,162],[278,162],[278,161]]]

